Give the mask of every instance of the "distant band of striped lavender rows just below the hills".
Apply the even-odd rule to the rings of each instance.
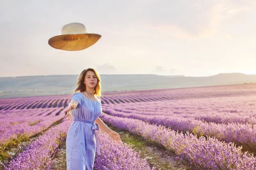
[[[121,95],[119,95],[121,94]],[[181,89],[155,89],[127,92],[105,92],[102,104],[144,103],[151,101],[179,101],[180,99],[212,98],[222,96],[250,96],[256,94],[255,85],[229,85]],[[0,111],[25,108],[63,107],[72,94],[63,96],[40,96],[15,99],[0,99]]]

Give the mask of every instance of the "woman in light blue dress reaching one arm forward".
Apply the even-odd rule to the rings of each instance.
[[[119,134],[108,128],[99,118],[102,113],[100,87],[100,77],[96,70],[83,70],[77,81],[77,93],[73,95],[67,110],[64,111],[67,113],[65,118],[74,120],[66,139],[67,170],[93,169],[96,149],[100,154],[95,130],[100,128],[107,132],[114,142],[121,142]]]

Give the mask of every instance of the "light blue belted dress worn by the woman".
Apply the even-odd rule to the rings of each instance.
[[[94,121],[102,113],[102,105],[100,101],[87,99],[80,92],[75,93],[72,100],[79,104],[72,111],[74,122],[67,132],[67,170],[93,170],[96,149],[100,154],[96,135],[99,126]]]

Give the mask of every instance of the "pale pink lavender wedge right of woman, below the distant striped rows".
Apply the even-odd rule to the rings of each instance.
[[[224,124],[256,124],[256,96],[110,104],[102,105],[102,108],[124,113],[185,117]]]

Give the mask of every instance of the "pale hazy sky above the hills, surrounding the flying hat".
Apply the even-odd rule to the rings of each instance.
[[[256,0],[1,0],[0,77],[256,74],[255,17]],[[49,46],[68,23],[102,37]]]

